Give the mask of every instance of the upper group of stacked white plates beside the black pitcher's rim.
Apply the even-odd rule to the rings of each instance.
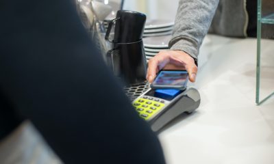
[[[143,37],[171,35],[174,26],[173,20],[147,20]]]

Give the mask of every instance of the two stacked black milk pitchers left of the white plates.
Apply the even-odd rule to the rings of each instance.
[[[119,10],[116,18],[110,21],[105,40],[109,40],[114,27],[112,49],[106,55],[107,64],[116,77],[127,85],[136,85],[146,80],[147,60],[142,43],[145,28],[145,14],[129,10]]]

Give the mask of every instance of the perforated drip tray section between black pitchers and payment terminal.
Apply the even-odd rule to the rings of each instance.
[[[144,92],[149,90],[149,83],[144,82],[138,85],[131,85],[124,87],[125,94],[129,97],[130,100],[134,100]]]

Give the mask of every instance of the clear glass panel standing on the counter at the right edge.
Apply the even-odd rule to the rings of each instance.
[[[258,0],[256,103],[274,98],[274,1]]]

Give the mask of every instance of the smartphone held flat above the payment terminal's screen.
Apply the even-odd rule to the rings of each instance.
[[[188,83],[188,72],[186,70],[161,70],[153,83],[153,89],[186,89]]]

